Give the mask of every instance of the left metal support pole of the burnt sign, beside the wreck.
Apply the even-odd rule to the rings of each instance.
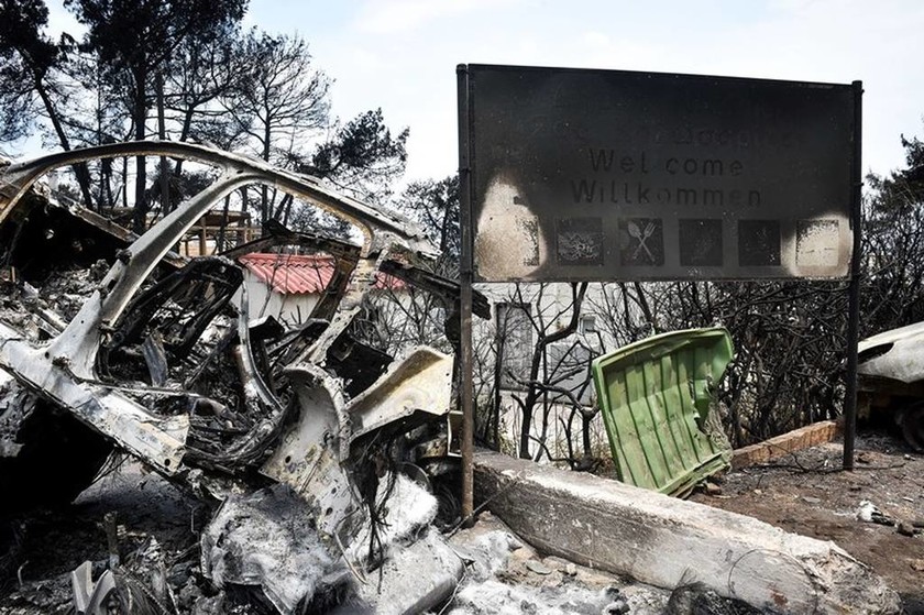
[[[460,64],[457,69],[459,96],[459,229],[461,234],[459,283],[460,293],[460,398],[462,407],[462,525],[474,524],[474,384],[472,353],[472,190],[471,151],[469,143],[469,69]]]

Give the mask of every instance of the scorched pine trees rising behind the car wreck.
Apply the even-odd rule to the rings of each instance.
[[[0,140],[48,147],[161,139],[215,144],[385,202],[404,173],[408,129],[381,110],[341,120],[331,79],[297,35],[243,31],[248,2],[73,0],[81,37],[47,34],[42,0],[0,3]],[[160,156],[78,163],[76,201],[135,232],[195,195],[208,174]],[[153,164],[152,164],[153,163]],[[204,176],[206,173],[206,176]],[[272,187],[239,195],[255,226],[346,228]]]

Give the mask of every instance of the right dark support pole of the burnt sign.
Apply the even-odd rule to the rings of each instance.
[[[860,263],[862,250],[862,81],[854,81],[854,161],[850,169],[854,251],[850,255],[850,284],[847,287],[847,389],[844,398],[844,470],[854,469],[854,442],[857,437],[857,344],[860,331]]]

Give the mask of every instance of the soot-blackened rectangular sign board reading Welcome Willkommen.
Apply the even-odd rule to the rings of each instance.
[[[854,86],[460,70],[475,281],[849,274]]]

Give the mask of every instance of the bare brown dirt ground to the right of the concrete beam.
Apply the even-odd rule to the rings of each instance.
[[[913,527],[924,524],[924,454],[886,435],[859,437],[856,453],[856,469],[844,472],[839,441],[806,449],[729,473],[722,494],[691,499],[833,540],[902,594],[906,613],[924,613],[924,535]],[[858,520],[862,501],[915,535]]]

